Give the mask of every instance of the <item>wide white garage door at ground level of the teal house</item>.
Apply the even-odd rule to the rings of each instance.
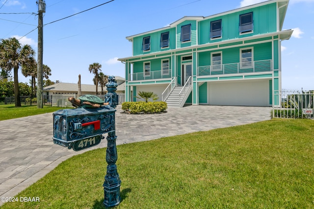
[[[269,80],[209,82],[210,105],[270,106]]]

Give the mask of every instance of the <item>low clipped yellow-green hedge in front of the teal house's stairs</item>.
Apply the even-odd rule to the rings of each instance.
[[[166,102],[123,102],[122,110],[126,113],[164,113],[167,110]]]

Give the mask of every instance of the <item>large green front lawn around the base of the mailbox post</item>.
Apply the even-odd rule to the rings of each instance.
[[[313,120],[272,119],[117,146],[116,208],[314,208],[313,133]],[[105,153],[74,156],[17,195],[39,203],[2,208],[103,208]]]

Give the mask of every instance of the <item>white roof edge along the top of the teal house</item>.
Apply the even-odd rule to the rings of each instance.
[[[147,31],[147,32],[144,32],[144,33],[139,33],[139,34],[132,35],[132,36],[127,36],[126,39],[128,39],[129,41],[133,41],[134,37],[146,35],[146,34],[153,33],[153,32],[158,32],[158,31],[165,30],[165,29],[168,29],[168,28],[173,28],[173,27],[176,27],[178,24],[180,24],[180,23],[182,23],[182,22],[184,22],[186,20],[196,20],[196,21],[207,20],[207,19],[210,19],[210,18],[215,18],[215,17],[218,17],[218,16],[227,15],[227,14],[230,14],[230,13],[234,13],[234,12],[238,12],[238,11],[242,11],[242,10],[246,10],[246,9],[250,9],[250,8],[254,8],[254,7],[257,7],[257,6],[262,6],[262,5],[266,5],[266,4],[270,4],[270,3],[275,3],[275,2],[278,2],[278,6],[279,6],[279,8],[281,8],[280,11],[279,11],[279,13],[280,13],[279,14],[279,16],[280,16],[280,30],[281,30],[282,26],[283,26],[283,23],[284,23],[285,16],[286,16],[289,0],[267,0],[267,1],[263,1],[261,3],[256,3],[256,4],[252,4],[252,5],[245,6],[245,7],[240,7],[240,8],[237,8],[237,9],[233,9],[233,10],[229,10],[227,12],[222,12],[222,13],[210,15],[210,16],[207,16],[207,17],[203,17],[203,16],[184,16],[183,18],[181,18],[181,19],[179,19],[179,20],[177,20],[177,21],[175,21],[173,23],[170,23],[166,27],[162,27],[162,28],[159,28],[159,29]]]

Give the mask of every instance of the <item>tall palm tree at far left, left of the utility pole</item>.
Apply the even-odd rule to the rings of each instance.
[[[14,72],[15,107],[21,107],[18,70],[20,66],[30,66],[34,63],[35,51],[30,45],[22,46],[16,38],[1,39],[0,68]]]

